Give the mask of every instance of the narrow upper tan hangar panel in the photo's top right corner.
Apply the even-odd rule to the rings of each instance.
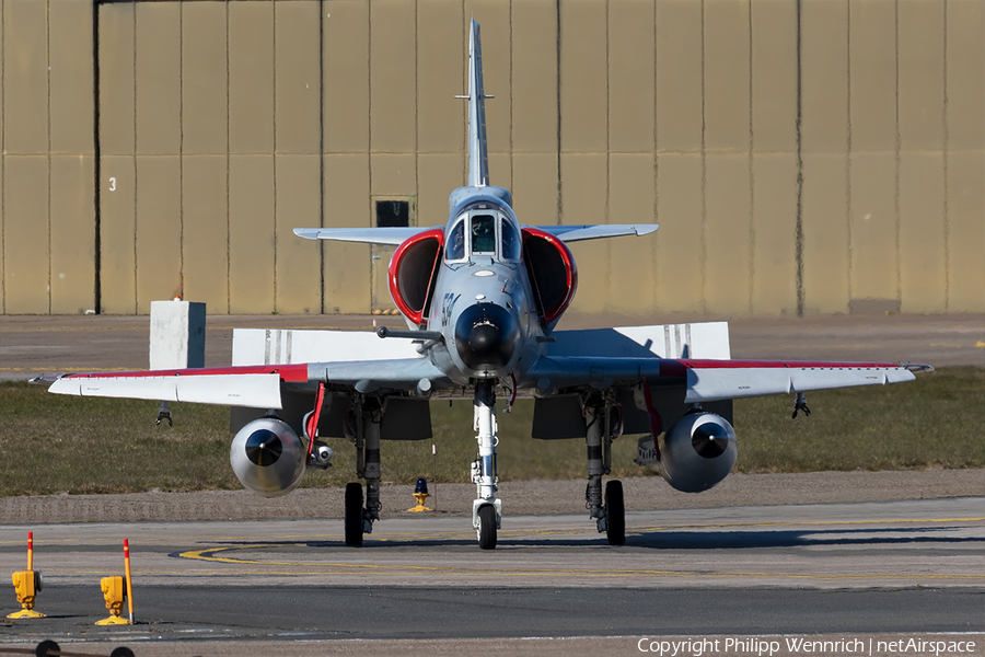
[[[985,147],[985,2],[947,3],[948,147]]]

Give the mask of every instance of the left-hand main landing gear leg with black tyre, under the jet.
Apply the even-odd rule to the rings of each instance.
[[[362,484],[346,484],[346,545],[362,545],[362,535],[372,533],[373,522],[380,519],[380,423],[383,408],[379,402],[358,399],[354,404],[356,476],[366,480],[366,507],[362,506]]]

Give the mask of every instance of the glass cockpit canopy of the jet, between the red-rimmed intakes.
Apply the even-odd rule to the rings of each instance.
[[[520,229],[498,210],[473,209],[459,216],[444,241],[444,260],[466,262],[472,256],[518,261],[523,251]]]

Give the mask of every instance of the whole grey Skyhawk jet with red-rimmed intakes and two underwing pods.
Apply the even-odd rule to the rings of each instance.
[[[380,441],[430,437],[429,400],[473,399],[478,458],[472,522],[480,548],[496,546],[502,518],[496,496],[496,401],[534,397],[536,438],[583,437],[587,507],[613,545],[625,542],[622,484],[602,477],[622,433],[646,434],[651,461],[679,491],[700,492],[735,463],[731,400],[914,379],[908,364],[743,361],[662,358],[645,346],[625,351],[622,334],[555,332],[577,287],[567,243],[646,235],[656,224],[526,226],[510,193],[489,184],[479,26],[468,59],[468,180],[449,196],[449,218],[433,228],[297,229],[310,240],[395,245],[390,291],[406,330],[379,337],[412,341],[408,357],[173,371],[104,372],[55,378],[61,394],[198,402],[240,407],[233,470],[264,496],[282,495],[309,466],[327,468],[317,436],[349,437],[362,484],[345,492],[345,540],[361,545],[380,518]],[[573,341],[570,334],[591,333]],[[364,334],[366,335],[366,334]],[[368,334],[372,336],[372,334]],[[376,339],[372,337],[372,339]],[[376,341],[379,342],[379,341]],[[338,353],[338,350],[336,350]],[[236,411],[236,408],[234,408]],[[233,427],[236,430],[236,427]],[[662,437],[662,439],[661,439]]]

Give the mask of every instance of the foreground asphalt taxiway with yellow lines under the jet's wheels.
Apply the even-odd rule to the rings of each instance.
[[[4,566],[21,567],[24,528],[0,531]],[[327,650],[343,639],[461,648],[613,637],[610,648],[628,649],[625,637],[650,635],[985,630],[983,497],[636,511],[622,548],[581,515],[509,517],[493,552],[477,549],[461,518],[433,516],[382,521],[361,549],[344,545],[340,520],[34,531],[46,583],[37,609],[49,618],[0,623],[0,645],[43,635],[130,647],[250,639],[235,645],[264,655],[268,642],[302,639]],[[123,538],[140,624],[97,629],[99,579],[121,573]],[[586,645],[595,644],[565,654]],[[205,654],[190,649],[182,654]]]

